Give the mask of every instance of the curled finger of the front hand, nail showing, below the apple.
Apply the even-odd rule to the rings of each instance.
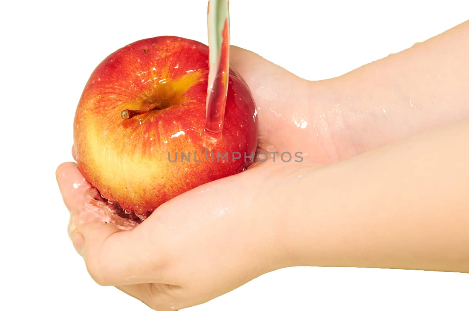
[[[80,224],[71,233],[76,251],[99,285],[160,282],[164,262],[156,241],[149,245],[144,230],[121,230],[105,222]]]

